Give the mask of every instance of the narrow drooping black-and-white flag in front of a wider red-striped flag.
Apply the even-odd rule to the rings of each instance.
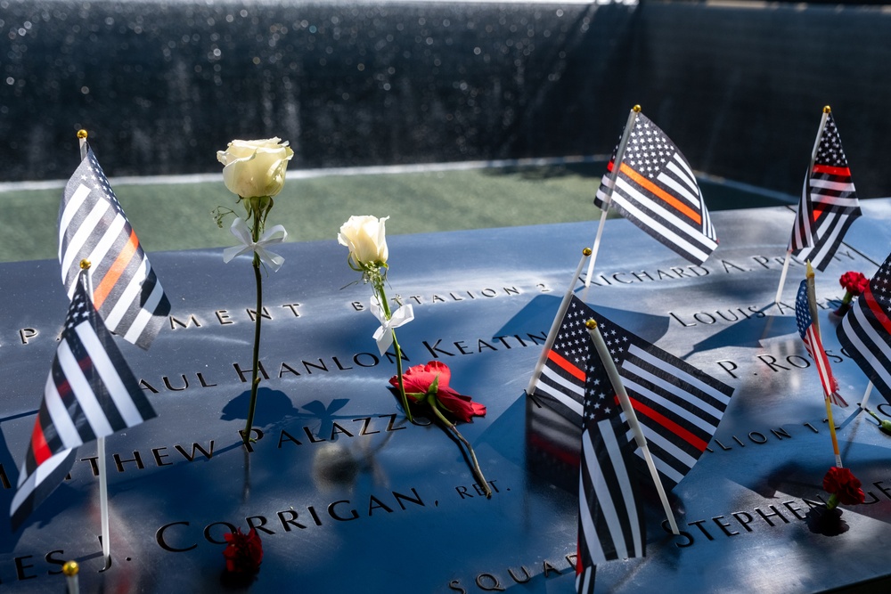
[[[590,343],[590,336],[585,337]],[[584,432],[578,481],[579,594],[593,592],[593,573],[585,568],[611,559],[643,557],[643,515],[637,496],[634,447],[626,433],[616,391],[600,360],[588,349],[584,363]]]

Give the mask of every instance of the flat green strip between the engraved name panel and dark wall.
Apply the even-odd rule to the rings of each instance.
[[[527,224],[594,222],[600,210],[593,196],[602,163],[570,162],[513,167],[437,168],[384,173],[294,172],[275,199],[268,224],[283,224],[289,241],[335,239],[351,215],[390,216],[388,234],[454,231]],[[207,176],[198,178],[206,180]],[[212,211],[235,208],[235,196],[218,181],[138,183],[110,179],[127,218],[146,251],[216,248],[233,245]],[[0,261],[54,258],[59,187],[22,189],[0,184],[4,233]],[[718,186],[715,186],[718,188]],[[703,192],[712,210],[776,204],[772,199],[730,191]],[[238,207],[241,215],[241,207]],[[610,216],[613,216],[610,213]]]

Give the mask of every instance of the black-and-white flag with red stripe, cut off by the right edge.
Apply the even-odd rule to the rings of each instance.
[[[891,403],[891,256],[838,325],[838,341]]]

